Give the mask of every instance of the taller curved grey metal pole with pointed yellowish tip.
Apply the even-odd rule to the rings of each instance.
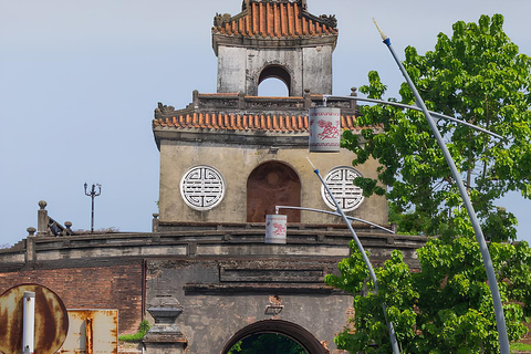
[[[454,178],[456,180],[457,187],[461,195],[462,201],[465,202],[468,217],[470,218],[470,222],[472,223],[473,231],[476,232],[476,240],[479,243],[479,249],[483,258],[483,264],[487,271],[489,288],[490,288],[490,292],[492,293],[492,303],[494,305],[496,323],[497,323],[498,335],[500,341],[500,351],[502,354],[510,354],[509,339],[507,335],[507,327],[506,327],[506,317],[503,315],[503,306],[501,304],[501,296],[500,296],[500,291],[498,289],[498,282],[496,280],[494,268],[492,267],[492,260],[490,258],[489,249],[487,247],[487,242],[485,241],[483,231],[481,230],[481,226],[479,225],[478,218],[476,216],[476,211],[473,210],[470,198],[468,197],[467,189],[465,188],[465,184],[462,183],[461,176],[457,170],[456,164],[451,158],[451,155],[448,148],[446,147],[445,142],[442,140],[442,136],[440,135],[440,132],[437,128],[437,124],[435,123],[434,118],[430,116],[428,108],[426,107],[426,104],[424,103],[423,98],[418,94],[417,88],[415,87],[415,84],[413,83],[412,79],[407,74],[407,71],[404,69],[404,65],[398,60],[398,56],[396,55],[395,50],[393,49],[393,45],[391,45],[391,39],[387,35],[385,35],[385,33],[379,29],[376,21],[374,23],[376,24],[382,35],[382,40],[389,49],[393,58],[395,59],[395,62],[398,64],[398,67],[400,69],[402,74],[406,79],[406,82],[409,85],[409,88],[412,88],[413,94],[415,95],[417,105],[419,105],[420,108],[423,110],[424,115],[428,121],[428,125],[431,128],[431,132],[434,133],[440,149],[442,150],[442,155],[445,156],[446,163],[450,167],[451,174],[454,175]]]

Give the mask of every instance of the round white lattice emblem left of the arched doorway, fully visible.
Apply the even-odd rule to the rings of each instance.
[[[190,208],[210,210],[223,199],[223,177],[214,167],[196,166],[180,180],[180,194]]]

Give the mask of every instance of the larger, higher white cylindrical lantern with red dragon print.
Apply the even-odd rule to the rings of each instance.
[[[341,139],[341,108],[310,108],[310,152],[339,153]]]

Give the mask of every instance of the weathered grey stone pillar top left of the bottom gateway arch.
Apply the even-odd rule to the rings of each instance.
[[[155,324],[144,336],[146,354],[183,354],[188,345],[186,336],[175,323],[183,306],[173,296],[157,296],[147,312]]]

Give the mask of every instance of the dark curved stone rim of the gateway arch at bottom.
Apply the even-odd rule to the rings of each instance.
[[[223,347],[221,354],[227,354],[228,351],[239,341],[252,334],[259,333],[277,333],[282,334],[296,343],[299,343],[308,354],[326,354],[327,351],[321,345],[321,343],[302,326],[281,320],[264,320],[254,322],[247,327],[238,331]]]

